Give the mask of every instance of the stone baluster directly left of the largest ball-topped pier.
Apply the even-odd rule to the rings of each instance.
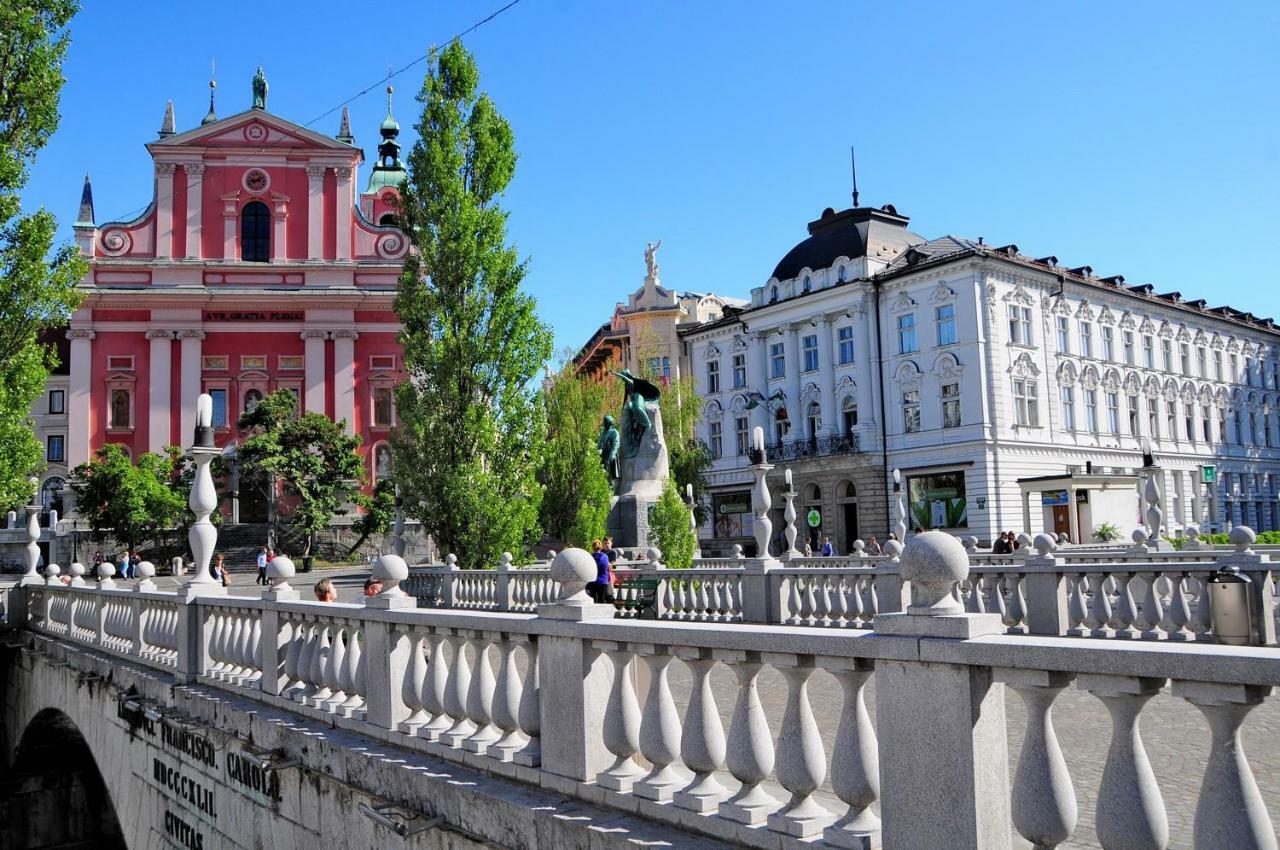
[[[879,798],[879,745],[864,696],[873,668],[858,658],[828,658],[822,664],[845,694],[831,757],[831,789],[849,809],[823,831],[827,844],[850,850],[879,846],[881,822],[870,806]]]

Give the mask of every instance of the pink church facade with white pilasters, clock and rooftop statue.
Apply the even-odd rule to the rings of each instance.
[[[68,329],[65,469],[104,443],[133,457],[187,445],[195,399],[214,397],[219,445],[276,389],[346,421],[369,477],[385,474],[403,378],[392,309],[408,241],[394,225],[398,125],[381,127],[365,191],[346,113],[326,137],[255,108],[177,132],[172,104],[151,205],[129,221],[74,225],[90,262]]]

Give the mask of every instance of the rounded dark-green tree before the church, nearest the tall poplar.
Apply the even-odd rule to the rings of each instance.
[[[251,479],[283,483],[292,502],[289,524],[303,535],[302,557],[311,556],[316,533],[346,513],[347,504],[367,504],[361,493],[360,437],[321,413],[298,416],[289,390],[278,389],[260,401],[241,416],[239,426],[248,431],[237,452],[241,471]]]

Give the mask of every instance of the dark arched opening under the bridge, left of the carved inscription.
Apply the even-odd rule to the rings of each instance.
[[[88,740],[56,708],[27,721],[0,780],[0,846],[128,847]]]

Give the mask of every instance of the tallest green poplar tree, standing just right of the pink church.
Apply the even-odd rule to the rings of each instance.
[[[545,422],[530,384],[550,357],[498,205],[516,168],[511,125],[479,83],[460,42],[431,52],[401,193],[415,251],[396,298],[408,371],[393,440],[401,495],[466,567],[541,536]]]

